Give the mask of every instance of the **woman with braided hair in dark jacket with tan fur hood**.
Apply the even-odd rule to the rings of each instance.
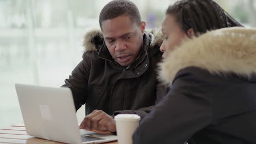
[[[159,74],[171,89],[133,144],[256,143],[256,29],[232,26],[241,25],[211,0],[167,9]]]

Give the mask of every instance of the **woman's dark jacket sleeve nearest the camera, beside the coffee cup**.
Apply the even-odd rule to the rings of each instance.
[[[184,143],[210,124],[211,84],[198,74],[176,76],[170,92],[139,124],[133,144]]]

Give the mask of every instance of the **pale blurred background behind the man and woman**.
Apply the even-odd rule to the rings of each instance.
[[[83,34],[98,28],[107,0],[0,0],[0,128],[23,122],[14,83],[60,87],[82,60]],[[171,0],[133,0],[147,28],[159,28]],[[256,27],[254,0],[216,1]],[[84,117],[79,109],[78,122]]]

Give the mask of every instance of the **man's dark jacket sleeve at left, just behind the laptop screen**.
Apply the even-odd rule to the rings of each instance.
[[[83,60],[74,68],[69,78],[65,80],[62,87],[71,89],[75,104],[75,110],[78,110],[86,103],[88,78],[90,73],[90,60],[83,54]]]

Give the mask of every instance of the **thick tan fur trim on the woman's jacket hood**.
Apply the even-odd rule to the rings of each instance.
[[[232,27],[183,41],[159,64],[159,78],[172,84],[179,70],[197,67],[211,74],[256,74],[256,29]]]

